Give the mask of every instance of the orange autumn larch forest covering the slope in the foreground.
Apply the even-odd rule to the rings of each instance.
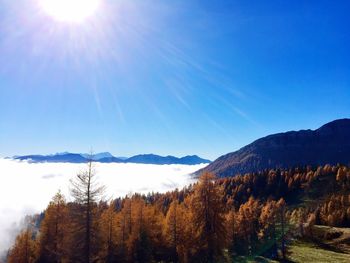
[[[350,168],[301,167],[216,178],[102,201],[93,163],[56,193],[9,250],[9,263],[288,260],[314,225],[350,227]]]

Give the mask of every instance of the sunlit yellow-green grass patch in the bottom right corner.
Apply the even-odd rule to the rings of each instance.
[[[330,250],[325,250],[308,243],[296,243],[290,246],[290,252],[291,254],[289,256],[289,259],[293,262],[350,262],[350,254],[343,254]]]

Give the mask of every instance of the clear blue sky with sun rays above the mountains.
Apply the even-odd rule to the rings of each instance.
[[[350,116],[349,1],[0,2],[0,155],[215,159]],[[15,3],[14,3],[15,2]]]

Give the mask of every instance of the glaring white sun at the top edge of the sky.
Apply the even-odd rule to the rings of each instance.
[[[39,0],[43,11],[61,22],[80,23],[92,16],[101,0]]]

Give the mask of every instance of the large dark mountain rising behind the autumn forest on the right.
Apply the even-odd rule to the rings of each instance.
[[[316,130],[269,135],[216,159],[204,169],[232,176],[272,168],[350,163],[350,119],[327,123]]]

